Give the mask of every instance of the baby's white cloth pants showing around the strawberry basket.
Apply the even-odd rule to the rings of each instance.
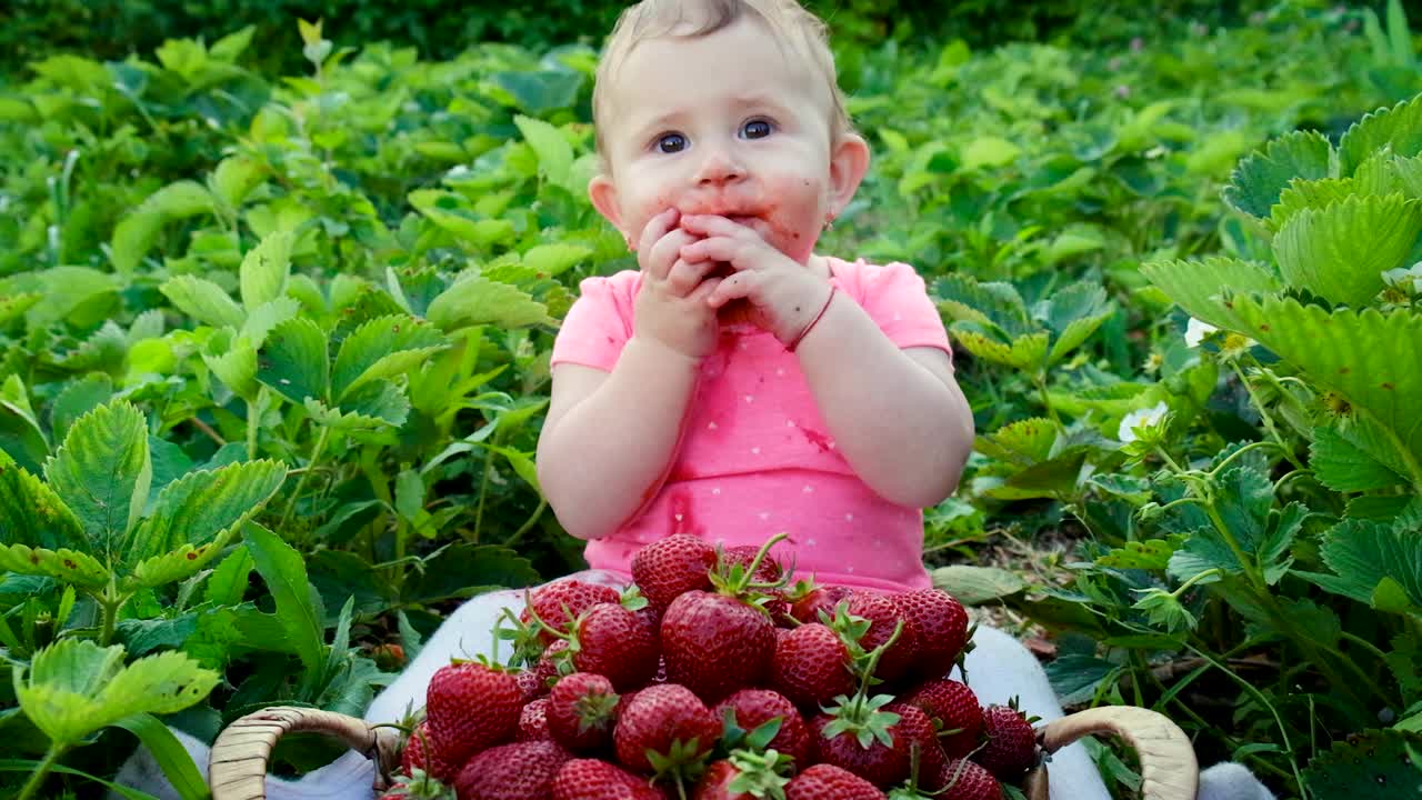
[[[619,585],[619,579],[606,572],[580,572],[583,581]],[[425,686],[439,666],[449,663],[452,656],[469,658],[489,655],[492,649],[493,625],[503,609],[515,614],[523,609],[523,591],[508,589],[479,595],[466,601],[447,619],[410,666],[375,696],[365,710],[365,720],[373,723],[398,722],[408,710],[425,702]],[[1005,705],[1018,698],[1020,706],[1042,717],[1042,722],[1062,716],[1061,703],[1052,692],[1047,673],[1037,658],[1012,636],[985,625],[978,625],[973,635],[977,645],[967,656],[970,686],[983,705]],[[508,655],[508,653],[501,653]],[[956,678],[961,678],[954,672]],[[179,730],[179,742],[192,754],[203,779],[208,777],[209,746]],[[1111,800],[1105,783],[1081,743],[1062,747],[1052,754],[1051,764],[1052,800]],[[374,764],[360,753],[346,753],[336,762],[313,770],[300,780],[289,781],[267,777],[270,800],[371,800]],[[159,800],[179,800],[172,786],[164,779],[162,770],[154,763],[146,749],[139,747],[119,770],[117,783],[146,791]],[[1244,767],[1220,764],[1200,776],[1199,800],[1274,800],[1274,796]],[[118,800],[117,794],[109,794]]]

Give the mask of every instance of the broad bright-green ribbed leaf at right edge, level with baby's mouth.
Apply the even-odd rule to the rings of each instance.
[[[1422,202],[1349,196],[1290,218],[1274,236],[1274,258],[1291,286],[1361,306],[1382,290],[1382,273],[1402,265],[1419,233]]]

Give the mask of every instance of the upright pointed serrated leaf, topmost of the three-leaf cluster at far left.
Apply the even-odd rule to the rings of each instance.
[[[152,463],[144,414],[122,400],[84,414],[44,464],[44,477],[94,549],[117,558],[115,545],[148,502]]]

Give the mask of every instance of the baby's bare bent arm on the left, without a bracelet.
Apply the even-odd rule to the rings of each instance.
[[[569,534],[617,530],[661,485],[695,391],[698,362],[633,336],[617,366],[553,367],[553,399],[538,441],[538,477]]]

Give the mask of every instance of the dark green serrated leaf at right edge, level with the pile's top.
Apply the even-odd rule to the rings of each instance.
[[[1330,592],[1372,604],[1378,585],[1391,578],[1416,606],[1422,605],[1422,538],[1385,524],[1344,520],[1322,537],[1320,554],[1332,575],[1305,574]]]

